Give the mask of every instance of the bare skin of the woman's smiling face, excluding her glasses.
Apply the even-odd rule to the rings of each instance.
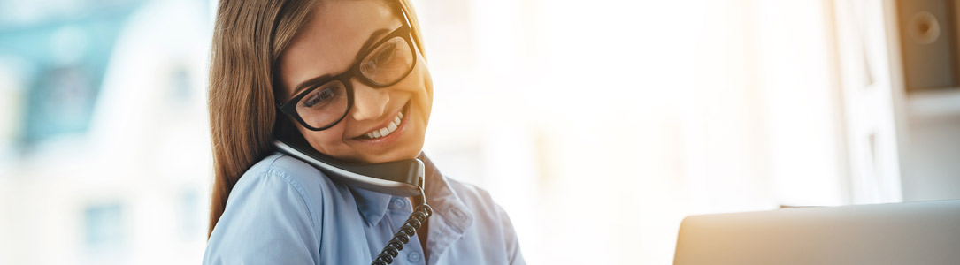
[[[283,89],[277,92],[283,94],[276,98],[286,102],[302,91],[294,91],[301,83],[347,71],[364,43],[377,42],[403,25],[398,15],[381,1],[321,3],[312,21],[279,58],[278,78]],[[419,51],[416,55],[413,71],[397,84],[373,88],[357,78],[350,80],[353,107],[335,126],[310,131],[296,120],[290,121],[314,149],[327,156],[357,162],[417,157],[430,118],[433,87],[422,55]],[[393,133],[370,137],[372,132],[391,127],[401,112]]]

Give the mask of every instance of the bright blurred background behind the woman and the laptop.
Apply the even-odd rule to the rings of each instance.
[[[424,151],[530,264],[686,215],[960,199],[954,1],[415,0]],[[198,264],[211,0],[0,1],[0,264]]]

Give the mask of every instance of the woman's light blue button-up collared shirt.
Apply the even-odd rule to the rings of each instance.
[[[429,219],[393,264],[525,264],[507,213],[487,191],[426,165]],[[294,157],[273,155],[230,192],[204,264],[370,264],[413,211],[406,198],[330,181]]]

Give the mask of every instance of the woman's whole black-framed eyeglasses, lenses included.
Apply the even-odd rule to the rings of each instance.
[[[322,131],[340,123],[353,108],[351,79],[357,78],[373,88],[399,83],[417,63],[410,23],[406,14],[403,18],[402,26],[359,53],[362,56],[358,56],[346,72],[310,82],[313,85],[276,108],[294,117],[303,127]]]

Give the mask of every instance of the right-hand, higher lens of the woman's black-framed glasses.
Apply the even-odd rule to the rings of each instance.
[[[414,52],[403,37],[395,36],[374,48],[360,62],[360,73],[376,84],[394,84],[414,65]]]

